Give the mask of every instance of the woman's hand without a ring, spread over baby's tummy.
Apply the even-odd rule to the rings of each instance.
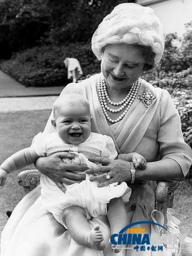
[[[39,157],[35,166],[42,174],[48,176],[65,192],[63,182],[67,185],[80,183],[85,180],[85,173],[76,174],[74,171],[84,172],[88,167],[83,165],[65,164],[64,158],[73,159],[75,154],[59,152],[47,157]]]

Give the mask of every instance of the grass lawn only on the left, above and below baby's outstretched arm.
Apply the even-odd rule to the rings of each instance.
[[[18,150],[30,146],[34,135],[43,131],[50,113],[51,110],[0,112],[0,163]],[[31,165],[22,170],[34,168]],[[11,173],[5,187],[0,187],[0,233],[8,219],[6,211],[14,209],[23,197],[23,189],[16,182],[20,171]]]

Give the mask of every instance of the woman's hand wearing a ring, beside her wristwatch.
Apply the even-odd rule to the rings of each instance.
[[[102,164],[98,167],[85,171],[86,173],[101,173],[98,176],[90,178],[90,181],[99,182],[97,187],[105,187],[119,181],[131,181],[132,175],[129,171],[131,169],[130,162],[121,159],[110,160],[105,157],[89,157],[89,160],[91,162],[100,162]],[[107,173],[111,176],[109,180],[106,180],[105,178]]]

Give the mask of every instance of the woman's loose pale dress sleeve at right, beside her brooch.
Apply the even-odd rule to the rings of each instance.
[[[158,142],[160,144],[160,157],[175,160],[186,176],[192,164],[192,149],[183,139],[179,113],[166,90],[162,90],[160,100]]]

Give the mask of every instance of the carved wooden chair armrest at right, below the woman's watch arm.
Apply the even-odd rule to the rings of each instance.
[[[164,214],[164,227],[166,228],[167,208],[173,207],[174,191],[178,186],[179,181],[160,181],[155,189],[155,209]]]

